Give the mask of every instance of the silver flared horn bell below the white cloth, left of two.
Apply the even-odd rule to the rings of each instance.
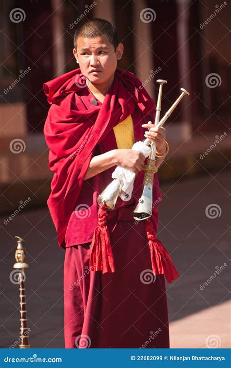
[[[121,186],[120,181],[118,179],[114,179],[110,184],[108,184],[104,191],[98,195],[98,204],[104,203],[107,211],[114,210]]]

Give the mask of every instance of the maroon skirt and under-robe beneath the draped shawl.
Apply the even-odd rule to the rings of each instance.
[[[132,118],[137,142],[143,139],[141,124],[147,121],[147,116],[136,109]],[[96,146],[95,154],[116,148],[111,130]],[[85,180],[75,205],[77,210],[73,211],[67,226],[65,347],[169,347],[164,275],[153,275],[145,223],[137,223],[132,214],[142,192],[142,172],[135,181],[132,199],[123,202],[118,198],[116,209],[109,213],[107,220],[116,273],[89,272],[90,241],[97,225],[96,198],[112,181],[114,170],[115,167]],[[161,198],[155,175],[153,202],[159,203]],[[152,220],[156,232],[157,206]]]

